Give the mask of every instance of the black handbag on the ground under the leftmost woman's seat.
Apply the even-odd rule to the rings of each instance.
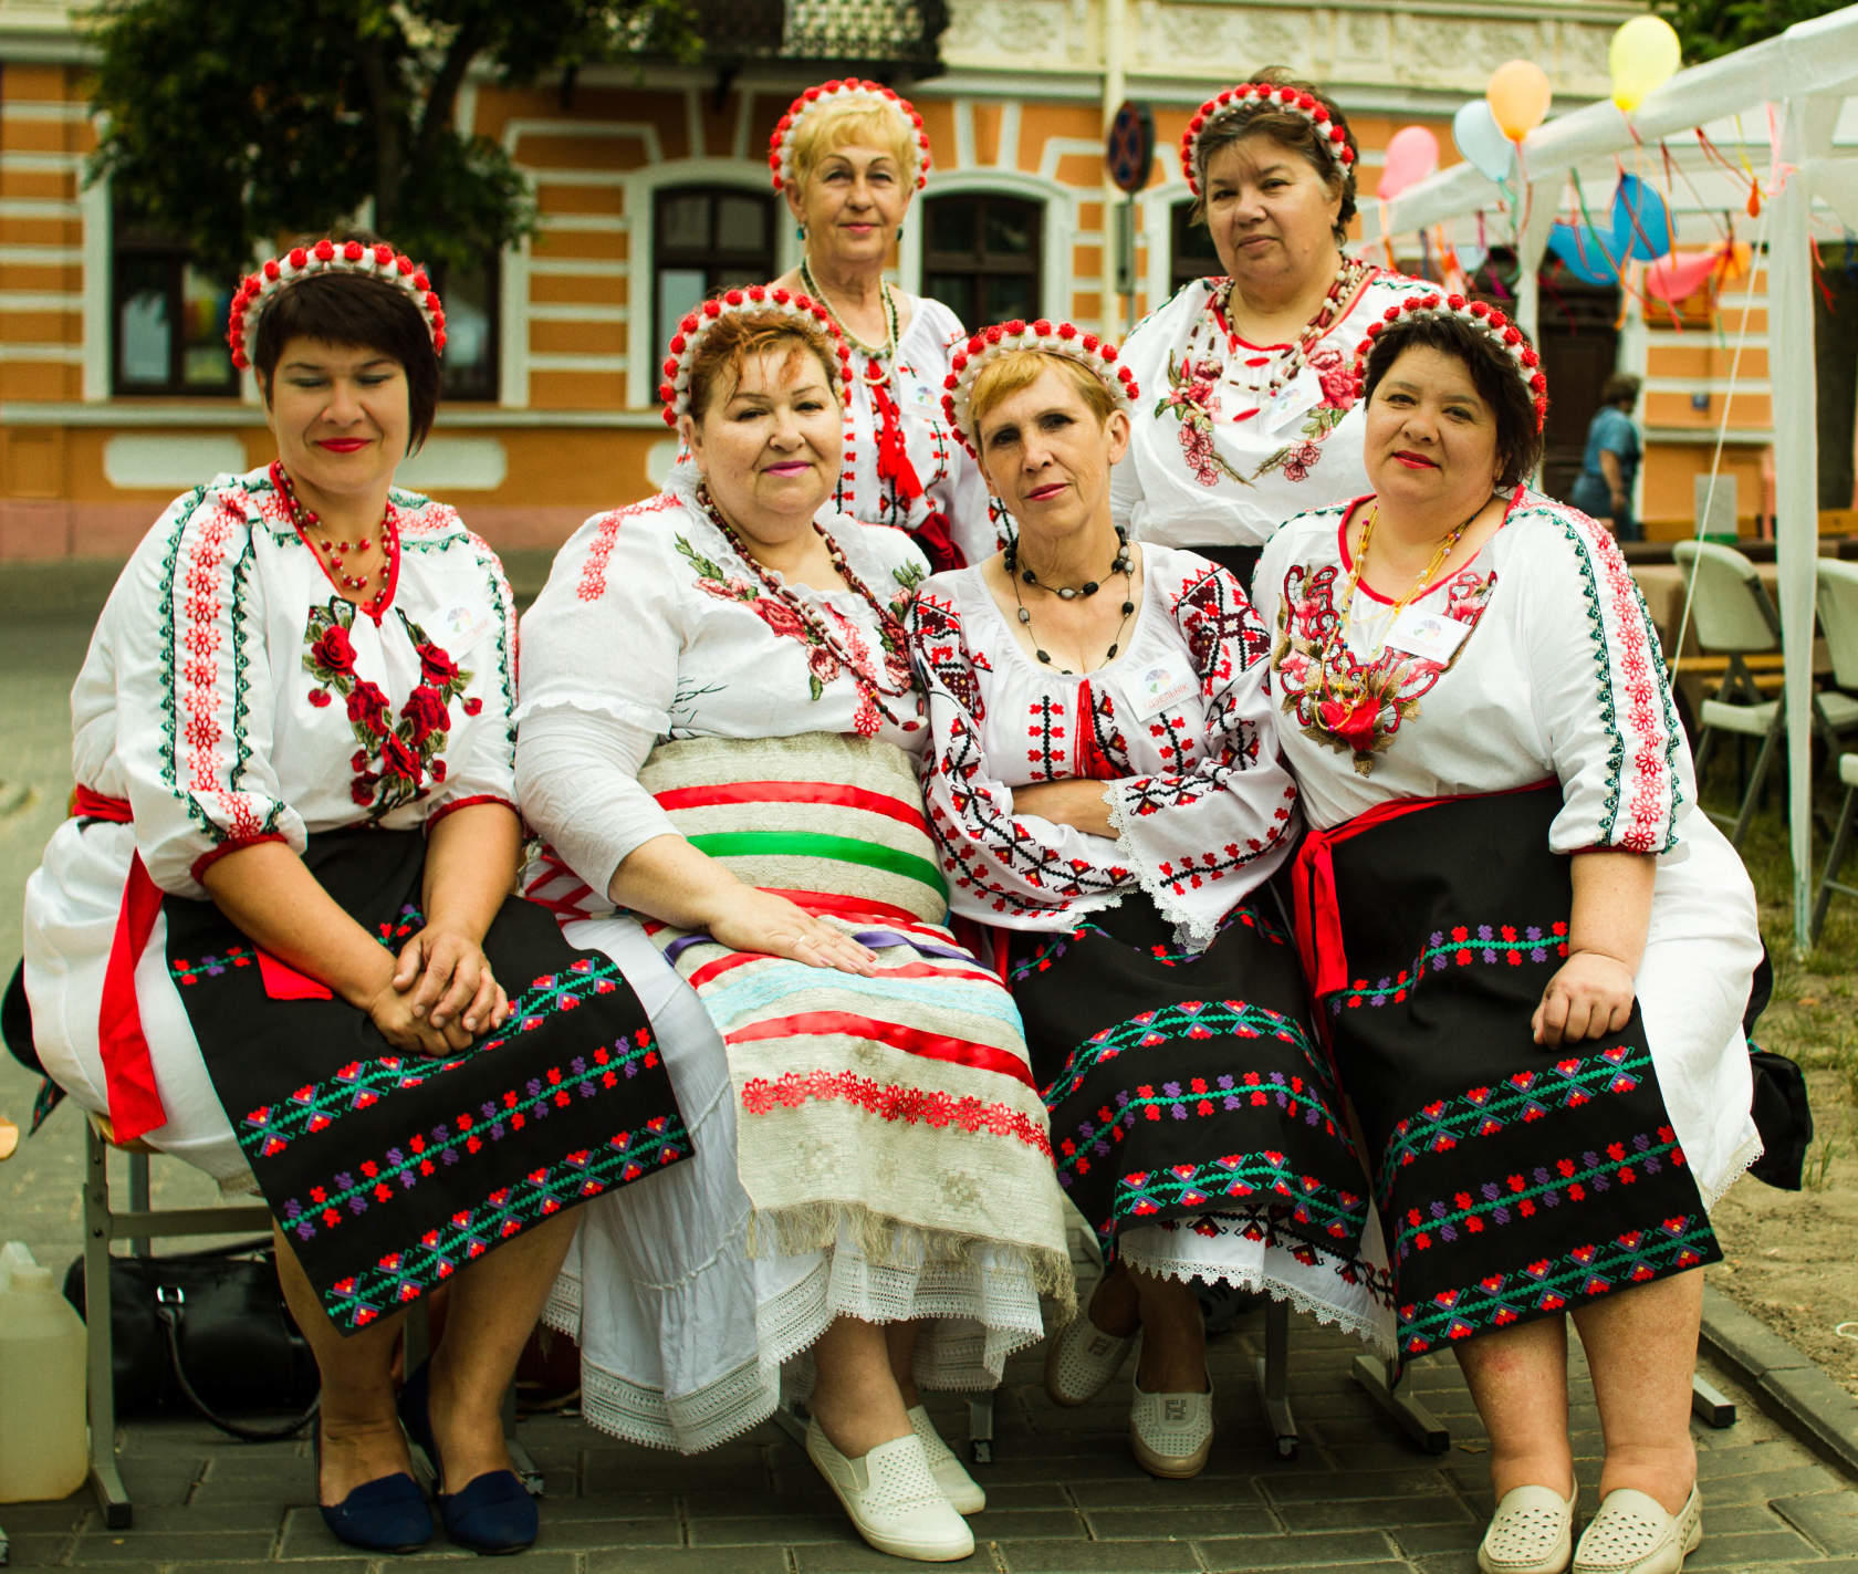
[[[84,1316],[82,1256],[65,1299]],[[111,1256],[110,1338],[117,1414],[191,1409],[247,1442],[295,1436],[316,1416],[316,1357],[284,1305],[269,1241]],[[277,1410],[290,1416],[251,1425],[229,1414]]]

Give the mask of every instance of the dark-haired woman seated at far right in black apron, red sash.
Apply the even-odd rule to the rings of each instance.
[[[1301,938],[1362,1119],[1399,1349],[1451,1345],[1492,1438],[1486,1570],[1566,1567],[1566,1319],[1605,1435],[1581,1574],[1680,1567],[1708,1206],[1760,1152],[1761,948],[1694,808],[1650,619],[1609,533],[1533,492],[1546,383],[1438,294],[1366,359],[1369,496],[1258,569],[1312,834]]]

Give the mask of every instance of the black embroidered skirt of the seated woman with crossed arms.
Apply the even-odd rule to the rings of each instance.
[[[1132,896],[1076,929],[1013,935],[1007,981],[1059,1184],[1106,1262],[1139,1225],[1236,1232],[1341,1275],[1340,1299],[1308,1288],[1321,1280],[1293,1299],[1347,1303],[1360,1325],[1367,1178],[1295,948],[1263,905],[1237,907],[1195,955]]]

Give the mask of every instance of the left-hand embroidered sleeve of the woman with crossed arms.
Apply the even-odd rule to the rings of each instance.
[[[987,769],[981,695],[953,598],[931,580],[905,617],[910,663],[929,699],[923,801],[949,905],[1009,929],[1050,929],[1079,898],[1133,883],[1117,844],[1037,814],[1014,816],[1013,790]]]

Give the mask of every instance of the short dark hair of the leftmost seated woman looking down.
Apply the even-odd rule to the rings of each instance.
[[[314,245],[320,238],[299,245]],[[338,245],[347,240],[370,247],[383,243],[360,229],[331,234],[331,240]],[[438,411],[438,351],[425,318],[405,290],[364,273],[331,271],[297,279],[273,294],[258,314],[251,355],[266,405],[271,403],[279,357],[294,338],[377,349],[398,361],[407,374],[407,453],[420,450]]]

